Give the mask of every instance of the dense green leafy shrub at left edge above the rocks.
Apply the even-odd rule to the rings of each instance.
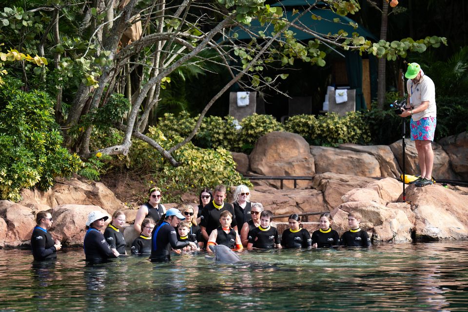
[[[57,176],[78,171],[81,161],[61,147],[54,100],[45,92],[20,90],[9,78],[0,89],[0,196],[20,200],[20,190],[47,189]]]

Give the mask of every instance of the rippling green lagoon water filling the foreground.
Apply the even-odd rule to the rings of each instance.
[[[468,311],[467,243],[242,252],[236,265],[198,253],[85,266],[81,250],[33,264],[0,250],[0,312]]]

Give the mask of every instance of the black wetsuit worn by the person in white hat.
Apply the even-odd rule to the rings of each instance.
[[[116,258],[104,235],[95,228],[89,228],[83,241],[86,261],[98,263],[110,258]]]

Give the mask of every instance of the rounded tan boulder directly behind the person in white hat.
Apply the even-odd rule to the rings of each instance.
[[[53,237],[58,239],[64,246],[82,247],[88,215],[95,210],[106,213],[99,206],[92,205],[60,205],[54,207],[52,209],[54,226],[50,229]],[[107,222],[110,221],[109,215]]]

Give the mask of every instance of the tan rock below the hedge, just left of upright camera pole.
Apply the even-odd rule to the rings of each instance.
[[[380,176],[400,176],[401,170],[398,161],[387,145],[357,145],[347,143],[339,145],[338,148],[358,153],[366,153],[375,157],[380,165]]]

